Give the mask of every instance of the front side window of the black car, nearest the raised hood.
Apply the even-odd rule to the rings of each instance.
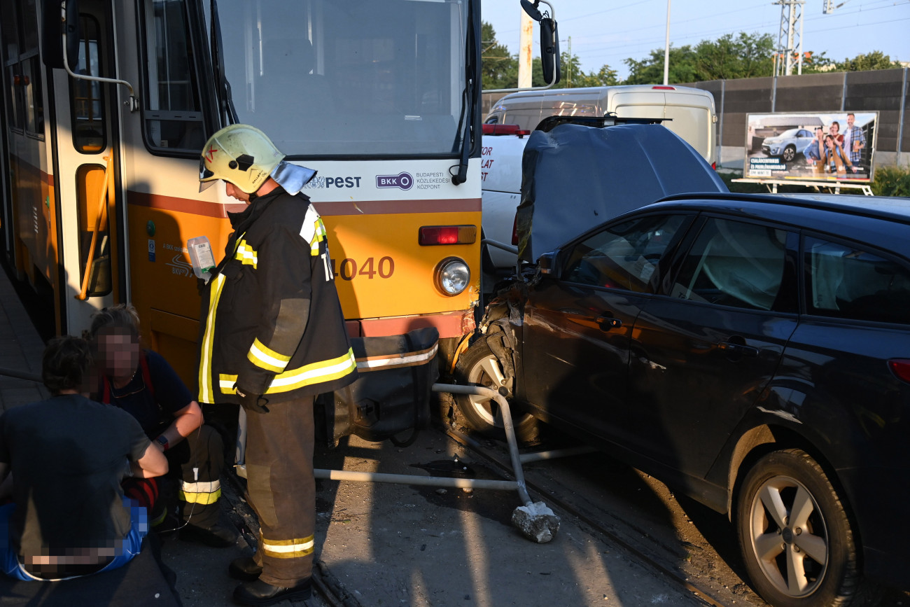
[[[652,293],[657,262],[686,217],[650,215],[613,224],[571,248],[561,278]]]

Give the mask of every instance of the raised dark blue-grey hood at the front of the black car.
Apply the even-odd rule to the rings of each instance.
[[[671,194],[727,191],[711,165],[662,125],[534,131],[521,160],[519,257],[536,261],[608,219]]]

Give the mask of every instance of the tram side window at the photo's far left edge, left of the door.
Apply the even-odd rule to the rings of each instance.
[[[43,137],[45,106],[35,0],[5,2],[2,6],[7,118],[16,130]]]

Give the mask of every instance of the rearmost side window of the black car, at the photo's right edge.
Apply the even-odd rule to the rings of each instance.
[[[805,238],[811,314],[910,323],[910,269],[860,246]]]

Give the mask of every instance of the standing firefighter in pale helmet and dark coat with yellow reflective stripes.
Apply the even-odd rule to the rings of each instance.
[[[313,400],[357,375],[329,259],[326,229],[300,190],[315,175],[266,135],[232,125],[208,139],[200,191],[219,180],[248,207],[203,288],[202,403],[239,403],[247,417],[247,488],[260,531],[253,557],[231,562],[240,604],[311,594]]]

